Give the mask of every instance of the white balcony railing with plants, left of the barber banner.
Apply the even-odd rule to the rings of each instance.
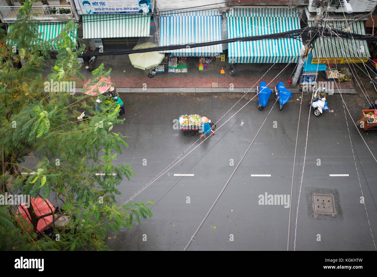
[[[4,20],[15,20],[20,7],[9,7],[9,6],[0,6],[0,13],[3,16]],[[56,20],[57,18],[69,19],[73,18],[72,7],[67,6],[32,6],[31,14],[33,18],[43,19],[43,20]]]

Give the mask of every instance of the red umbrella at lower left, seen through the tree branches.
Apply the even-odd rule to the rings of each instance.
[[[30,199],[31,205],[34,208],[34,212],[36,216],[41,216],[43,214],[49,214],[55,210],[54,205],[52,205],[48,199],[42,199],[41,197],[31,198]],[[26,208],[25,203],[18,207],[18,215],[21,217],[25,217],[29,223],[28,232],[31,229],[31,221],[28,208]],[[38,221],[37,231],[41,232],[49,225],[53,220],[53,216],[45,216]]]

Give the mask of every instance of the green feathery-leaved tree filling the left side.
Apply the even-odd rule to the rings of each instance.
[[[111,132],[114,124],[123,124],[117,119],[119,107],[103,105],[97,111],[93,96],[71,95],[55,86],[85,80],[78,61],[84,46],[74,51],[77,43],[69,37],[78,26],[71,21],[57,38],[43,41],[36,34],[38,22],[31,18],[30,8],[28,0],[2,38],[6,47],[0,51],[1,193],[49,199],[59,205],[55,212],[62,212],[54,214],[54,236],[48,236],[38,232],[37,224],[51,216],[52,209],[38,216],[30,205],[27,223],[16,205],[0,205],[0,250],[108,249],[107,230],[132,228],[133,222],[152,217],[148,206],[153,203],[116,204],[115,196],[121,194],[117,186],[124,176],[134,175],[131,165],[113,164],[122,147],[128,147],[126,136]],[[59,48],[57,61],[43,80],[41,67],[54,42]],[[25,65],[17,69],[18,62]],[[110,71],[101,64],[93,70],[91,84],[109,77]],[[82,109],[88,117],[79,121]],[[67,219],[66,225],[56,228],[61,218]]]

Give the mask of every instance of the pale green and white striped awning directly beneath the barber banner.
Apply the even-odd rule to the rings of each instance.
[[[150,16],[144,14],[83,15],[83,38],[149,37]]]

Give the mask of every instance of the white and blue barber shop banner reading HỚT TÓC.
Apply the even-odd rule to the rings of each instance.
[[[77,0],[75,0],[76,2]],[[151,0],[78,0],[81,7],[79,14],[131,14],[152,13]]]

